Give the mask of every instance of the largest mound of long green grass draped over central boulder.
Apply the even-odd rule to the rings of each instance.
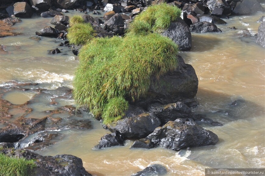
[[[74,99],[96,118],[102,115],[105,124],[117,120],[128,108],[126,100],[147,93],[152,75],[177,67],[177,54],[177,45],[157,33],[95,38],[79,51]]]

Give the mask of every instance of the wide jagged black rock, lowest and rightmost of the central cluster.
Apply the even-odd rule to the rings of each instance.
[[[175,151],[218,142],[218,136],[213,132],[193,125],[190,121],[180,121],[169,121],[163,127],[156,128],[147,138],[156,145]]]

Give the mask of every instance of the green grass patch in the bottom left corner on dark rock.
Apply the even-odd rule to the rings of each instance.
[[[0,153],[0,175],[1,176],[24,176],[36,167],[33,160],[25,158],[12,158]]]

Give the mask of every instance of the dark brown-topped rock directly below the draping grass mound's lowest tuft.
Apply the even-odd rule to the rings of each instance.
[[[160,124],[160,120],[153,113],[147,113],[140,107],[130,105],[124,118],[103,125],[103,127],[111,132],[119,131],[126,138],[143,138],[152,133]]]

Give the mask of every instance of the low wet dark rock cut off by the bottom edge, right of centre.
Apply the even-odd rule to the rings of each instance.
[[[143,171],[136,172],[135,174],[132,174],[132,176],[150,176],[150,175],[165,175],[167,174],[167,169],[160,165],[160,164],[152,164],[146,168],[144,168]]]

